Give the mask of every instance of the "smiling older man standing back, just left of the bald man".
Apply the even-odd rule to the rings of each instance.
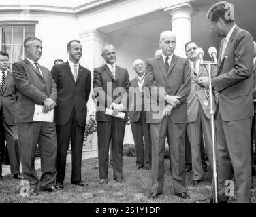
[[[133,69],[137,73],[137,77],[131,80],[131,88],[129,89],[129,117],[131,121],[131,132],[135,143],[136,150],[136,167],[140,170],[146,167],[151,169],[151,135],[150,125],[146,123],[146,111],[144,100],[145,87],[145,64],[138,59],[133,62]],[[144,153],[145,148],[145,153]]]

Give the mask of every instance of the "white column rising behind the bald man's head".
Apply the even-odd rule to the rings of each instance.
[[[172,31],[176,34],[175,54],[185,57],[184,45],[191,41],[191,14],[194,9],[189,3],[174,5],[165,9],[172,17]]]

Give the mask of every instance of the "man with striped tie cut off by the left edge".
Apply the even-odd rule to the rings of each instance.
[[[18,149],[18,132],[15,125],[16,87],[12,72],[8,69],[9,54],[0,51],[0,119],[3,136],[7,141],[11,173],[15,179],[22,179],[20,174],[20,151]]]

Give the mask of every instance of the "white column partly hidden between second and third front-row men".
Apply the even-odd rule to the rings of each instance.
[[[80,33],[80,41],[82,44],[82,58],[80,60],[80,64],[91,71],[91,94],[93,92],[93,69],[102,65],[103,59],[101,57],[101,48],[104,43],[105,35],[100,33],[99,31],[92,30],[85,33]],[[87,102],[87,109],[89,113],[87,113],[87,118],[91,113],[96,111],[96,106],[93,102],[93,99],[89,96],[89,100]],[[90,138],[90,136],[89,136]],[[92,142],[92,150],[97,150],[97,134],[93,134]]]

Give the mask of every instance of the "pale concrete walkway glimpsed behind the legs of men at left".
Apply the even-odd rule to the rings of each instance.
[[[98,157],[98,151],[83,151],[82,152],[82,160],[93,158],[93,157]],[[70,163],[70,162],[71,162],[71,153],[69,153],[67,155],[67,163]],[[36,159],[35,160],[35,170],[40,169],[40,167],[41,167],[41,161],[40,161],[40,159]],[[2,164],[2,169],[3,169],[2,176],[6,176],[11,173],[10,165]],[[20,170],[22,170],[21,165],[20,165]]]

